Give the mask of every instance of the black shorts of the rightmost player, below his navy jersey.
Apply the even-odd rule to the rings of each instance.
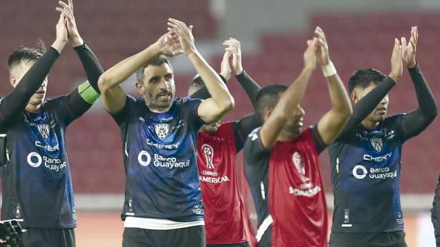
[[[408,247],[404,231],[387,233],[331,233],[329,247]]]

